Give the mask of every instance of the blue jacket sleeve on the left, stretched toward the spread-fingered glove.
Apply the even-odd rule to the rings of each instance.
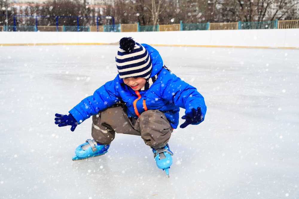
[[[108,81],[98,88],[93,95],[83,99],[69,111],[78,124],[81,124],[92,115],[96,115],[100,110],[111,107],[113,104],[120,101],[121,98],[117,89],[120,87],[120,83],[117,79],[118,76],[114,80]]]

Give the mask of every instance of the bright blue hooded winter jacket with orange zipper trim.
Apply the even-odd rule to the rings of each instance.
[[[134,91],[117,75],[69,111],[79,124],[120,100],[126,103],[128,117],[138,118],[146,110],[158,109],[165,114],[173,129],[179,125],[180,107],[186,109],[185,113],[201,107],[203,118],[194,124],[204,120],[207,107],[202,95],[195,87],[163,68],[162,58],[156,49],[147,44],[141,45],[147,49],[152,60],[150,77],[158,74],[157,80],[148,90]]]

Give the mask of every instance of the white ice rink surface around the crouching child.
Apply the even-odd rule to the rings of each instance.
[[[1,46],[0,198],[299,198],[299,50],[155,48],[207,105],[172,133],[170,178],[133,135],[72,161],[92,121],[54,124],[115,78],[117,45]]]

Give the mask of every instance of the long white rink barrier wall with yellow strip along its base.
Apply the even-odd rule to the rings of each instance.
[[[165,32],[0,32],[0,45],[118,44],[122,37],[158,46],[299,48],[299,29]]]

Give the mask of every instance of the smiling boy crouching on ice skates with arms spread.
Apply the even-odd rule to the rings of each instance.
[[[164,65],[157,50],[122,38],[115,58],[118,75],[69,111],[55,114],[59,127],[77,124],[92,116],[91,136],[75,150],[73,160],[104,155],[115,138],[115,132],[140,135],[152,148],[159,169],[169,177],[172,155],[168,141],[179,124],[179,110],[186,109],[182,119],[189,124],[204,120],[207,107],[196,88],[176,77]]]

